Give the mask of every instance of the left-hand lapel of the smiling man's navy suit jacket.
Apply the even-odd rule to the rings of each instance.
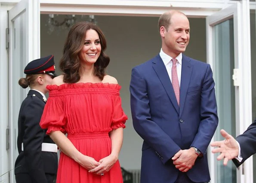
[[[157,73],[157,76],[160,79],[165,91],[167,92],[168,97],[173,103],[173,106],[176,109],[177,113],[179,113],[179,106],[173,90],[173,85],[170,81],[170,77],[167,73],[166,67],[163,64],[163,60],[159,54],[153,59],[152,63],[153,63],[153,68]]]

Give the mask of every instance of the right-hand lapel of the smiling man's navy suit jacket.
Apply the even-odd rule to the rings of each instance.
[[[180,98],[179,98],[179,117],[182,115],[184,108],[186,95],[188,92],[188,86],[191,79],[193,66],[189,63],[190,59],[182,54],[182,71],[180,82]]]

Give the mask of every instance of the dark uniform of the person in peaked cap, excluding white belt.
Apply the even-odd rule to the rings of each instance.
[[[19,111],[15,174],[27,173],[33,183],[47,183],[45,174],[57,174],[58,168],[57,153],[42,151],[42,143],[54,143],[39,125],[44,106],[43,96],[30,90]]]

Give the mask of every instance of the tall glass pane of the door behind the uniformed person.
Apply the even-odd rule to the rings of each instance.
[[[26,28],[25,28],[25,13],[19,15],[15,21],[12,22],[13,24],[13,40],[12,45],[12,64],[10,64],[10,74],[12,82],[10,82],[10,90],[12,91],[12,125],[13,128],[13,141],[11,142],[11,148],[13,149],[13,165],[15,160],[18,156],[18,149],[17,149],[17,137],[18,137],[18,116],[19,116],[19,108],[24,100],[26,95],[26,90],[23,89],[19,84],[18,81],[21,77],[25,77],[23,73],[25,64],[26,64],[26,55],[25,55],[25,48],[26,48]],[[14,171],[12,171],[14,175]]]

